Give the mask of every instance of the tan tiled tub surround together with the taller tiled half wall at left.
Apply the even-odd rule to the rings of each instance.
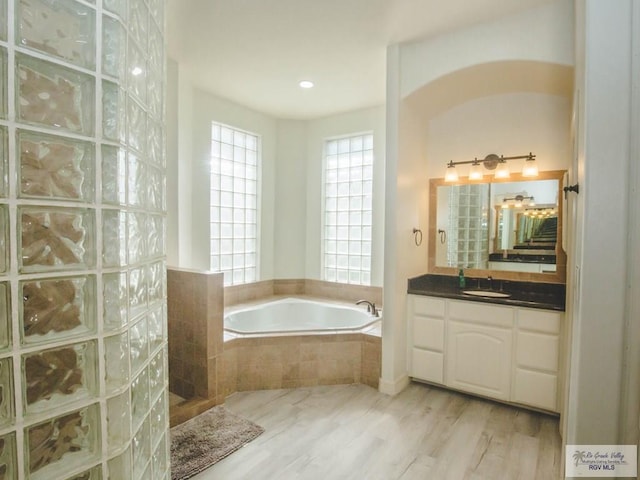
[[[282,296],[350,304],[366,298],[380,305],[381,288],[295,279],[223,285],[220,273],[167,269],[169,390],[185,398],[171,409],[172,426],[237,391],[339,383],[378,387],[379,325],[355,333],[249,338],[224,332],[224,311],[225,304],[241,309]]]

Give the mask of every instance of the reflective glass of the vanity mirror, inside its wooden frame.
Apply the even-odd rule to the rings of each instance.
[[[559,183],[438,185],[436,267],[555,273]]]

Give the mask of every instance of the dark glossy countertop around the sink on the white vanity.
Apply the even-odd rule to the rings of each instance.
[[[491,287],[491,288],[490,288]],[[509,298],[478,297],[462,293],[462,290],[495,290],[509,293]],[[564,312],[565,285],[559,283],[517,282],[486,278],[466,278],[466,287],[460,288],[457,276],[425,274],[410,278],[407,293],[432,297],[455,298],[472,302],[494,303],[515,307],[541,308]]]

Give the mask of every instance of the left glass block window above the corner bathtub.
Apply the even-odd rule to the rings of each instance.
[[[211,269],[225,285],[258,279],[260,137],[214,123],[211,129]]]

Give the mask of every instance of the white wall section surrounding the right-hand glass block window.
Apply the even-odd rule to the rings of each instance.
[[[310,120],[307,126],[307,222],[306,278],[321,279],[322,251],[322,179],[324,140],[361,132],[373,132],[373,239],[371,284],[382,286],[384,269],[384,165],[385,110],[384,107],[356,110]],[[286,261],[285,258],[281,259]]]

